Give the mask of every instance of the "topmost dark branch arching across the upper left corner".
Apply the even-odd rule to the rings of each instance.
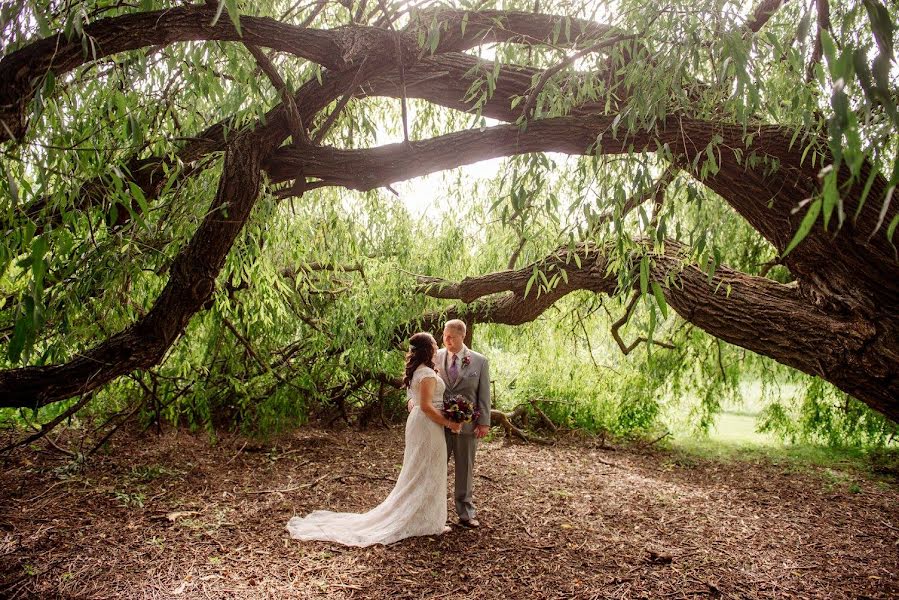
[[[66,39],[57,34],[38,40],[0,60],[0,142],[20,140],[27,131],[27,103],[48,73],[59,76],[91,60],[128,50],[167,46],[175,42],[197,40],[239,41],[287,52],[318,63],[333,71],[345,71],[363,60],[396,57],[397,44],[404,62],[413,64],[422,57],[415,21],[399,37],[379,27],[354,25],[331,30],[310,29],[282,23],[267,17],[241,16],[238,32],[230,19],[215,19],[216,6],[190,5],[160,11],[139,12],[101,19],[85,25],[83,37],[91,52],[85,54],[81,36]],[[463,18],[478,26],[463,27]],[[444,11],[443,27],[453,32],[442,37],[436,52],[466,50],[488,41],[546,39],[562,16],[486,11],[468,13]],[[474,17],[472,19],[472,16]],[[455,22],[449,23],[448,20]],[[506,20],[510,28],[497,26]],[[215,23],[214,25],[212,23]],[[464,31],[463,31],[464,28]],[[583,25],[584,32],[605,31],[598,24]]]

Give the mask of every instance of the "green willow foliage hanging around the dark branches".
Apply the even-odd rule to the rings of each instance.
[[[4,120],[0,368],[65,363],[145,316],[210,212],[225,150],[213,139],[275,122],[281,113],[273,109],[287,96],[340,84],[321,106],[313,106],[315,92],[307,95],[297,110],[302,131],[295,124],[284,148],[394,143],[418,149],[424,165],[417,142],[485,132],[500,121],[525,136],[541,120],[589,109],[609,117],[609,126],[581,152],[544,139],[539,151],[497,152],[478,167],[405,183],[396,182],[446,167],[416,171],[412,152],[391,163],[396,178],[381,181],[351,154],[321,175],[309,159],[299,167],[305,175],[286,159],[269,164],[204,310],[156,366],[106,385],[95,410],[137,403],[147,418],[263,432],[312,415],[389,418],[402,409],[391,396],[402,339],[423,315],[458,304],[421,293],[418,276],[456,281],[533,264],[524,296],[540,297],[568,275],[539,261],[589,243],[610,249],[611,296],[565,296],[517,328],[476,325],[475,344],[499,367],[500,404],[540,397],[560,419],[616,433],[658,428],[686,407],[691,424],[707,429],[749,381],[763,389],[764,426],[785,436],[879,444],[895,432],[830,384],[694,327],[670,309],[666,282],[653,276],[653,253],[673,239],[687,249],[682,260],[704,265],[710,278],[726,264],[789,284],[796,274],[785,257],[817,230],[854,227],[864,206],[879,217],[871,236],[892,245],[895,7],[564,1],[536,7],[558,15],[536,35],[504,16],[533,13],[533,2],[222,0],[197,7],[207,11],[196,18],[208,31],[107,53],[91,26],[183,6],[138,4],[29,1],[0,9],[4,60],[56,34],[81,46],[74,68],[48,68],[34,80],[24,133]],[[326,52],[293,52],[256,33],[270,22],[313,32],[372,26],[397,40],[404,32],[418,54],[400,59],[398,70],[363,77],[355,70],[375,58],[341,71]],[[211,33],[226,25],[237,35]],[[460,68],[448,57],[464,65],[453,71],[465,84],[455,96],[427,85]],[[640,132],[678,119],[739,127],[744,146],[709,135],[685,151],[685,163],[685,149],[638,141]],[[753,150],[764,125],[795,131],[791,144],[821,182],[790,207],[798,227],[777,243],[703,184],[726,160],[776,170]],[[440,146],[452,157],[447,166],[492,157],[466,156],[454,139]],[[603,150],[609,146],[622,151]],[[147,165],[155,165],[152,177],[142,175]],[[886,179],[883,194],[869,194],[881,189],[872,188],[875,174]],[[848,210],[843,199],[853,185],[864,193]],[[643,256],[636,263],[635,253]],[[631,290],[640,296],[632,314]],[[627,324],[614,327],[626,313]],[[613,329],[646,341],[622,353]]]

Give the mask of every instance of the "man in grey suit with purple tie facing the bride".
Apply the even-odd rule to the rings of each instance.
[[[465,346],[465,323],[459,319],[447,321],[443,327],[443,348],[437,351],[434,362],[446,384],[444,399],[462,396],[477,404],[481,416],[477,423],[466,423],[461,433],[446,433],[447,458],[456,459],[456,514],[465,527],[479,527],[471,502],[472,474],[477,440],[490,430],[490,368],[483,354]]]

